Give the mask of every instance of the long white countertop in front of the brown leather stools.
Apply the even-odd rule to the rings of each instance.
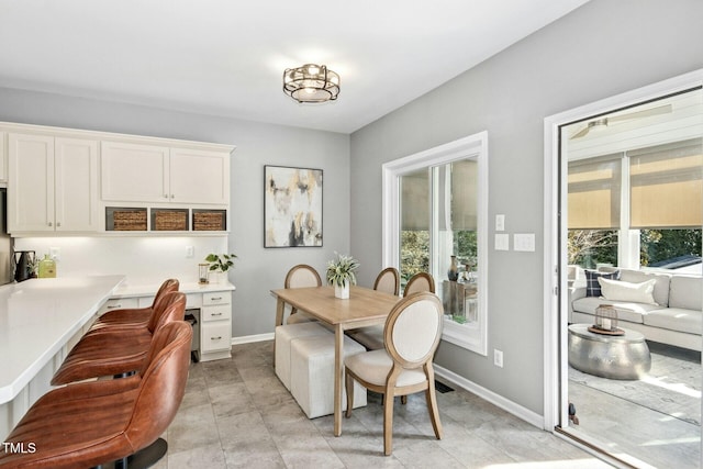
[[[18,395],[123,280],[59,277],[0,287],[0,404]]]

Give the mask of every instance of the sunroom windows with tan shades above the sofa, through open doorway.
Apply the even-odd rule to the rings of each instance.
[[[687,91],[563,127],[569,264],[701,272],[700,100]]]

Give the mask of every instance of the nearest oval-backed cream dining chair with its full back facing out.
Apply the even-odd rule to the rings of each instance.
[[[383,331],[383,349],[353,355],[344,360],[347,417],[354,405],[354,381],[383,394],[386,456],[393,447],[393,398],[397,395],[425,391],[435,436],[442,439],[432,361],[442,338],[443,314],[442,302],[434,293],[412,293],[390,312]]]

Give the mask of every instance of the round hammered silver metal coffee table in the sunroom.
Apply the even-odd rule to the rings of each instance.
[[[639,379],[649,372],[651,356],[645,336],[595,334],[589,324],[569,326],[569,365],[579,371],[610,379]]]

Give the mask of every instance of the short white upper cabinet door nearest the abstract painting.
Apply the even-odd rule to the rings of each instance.
[[[178,203],[230,202],[230,155],[171,148],[170,199]]]

